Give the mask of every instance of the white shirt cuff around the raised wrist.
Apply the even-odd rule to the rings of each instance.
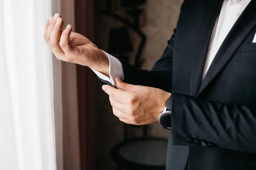
[[[102,50],[103,51],[103,50]],[[122,68],[122,63],[116,58],[113,57],[112,55],[106,53],[103,51],[105,54],[107,54],[108,59],[109,59],[109,76],[106,76],[99,71],[94,70],[93,68],[92,71],[101,79],[110,82],[112,85],[116,85],[115,83],[115,78],[118,77],[123,81],[124,79],[124,71]]]

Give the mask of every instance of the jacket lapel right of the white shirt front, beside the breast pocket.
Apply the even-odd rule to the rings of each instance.
[[[244,39],[250,34],[256,26],[256,0],[252,0],[239,19],[236,21],[233,28],[230,30],[226,39],[218,50],[212,64],[207,71],[206,76],[201,84],[197,96],[209,85],[209,83],[218,75],[224,68],[227,62],[233,57]],[[204,64],[203,64],[204,65]]]

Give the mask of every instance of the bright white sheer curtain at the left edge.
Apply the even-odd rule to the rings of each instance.
[[[51,0],[0,0],[0,170],[56,170]]]

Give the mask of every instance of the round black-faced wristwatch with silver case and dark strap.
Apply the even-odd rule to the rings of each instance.
[[[172,129],[172,98],[173,98],[173,95],[171,95],[171,97],[168,99],[166,103],[166,107],[158,117],[158,121],[160,125],[163,128],[169,129],[169,130]]]

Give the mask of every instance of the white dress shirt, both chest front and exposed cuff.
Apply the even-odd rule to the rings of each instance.
[[[230,32],[231,28],[236,23],[236,20],[240,17],[244,9],[250,3],[251,0],[224,0],[221,12],[216,19],[215,26],[212,30],[212,36],[209,42],[209,48],[207,52],[207,57],[204,65],[203,77],[204,79],[212,60],[218,52],[218,49],[221,47],[221,44],[224,42],[224,39],[227,37],[227,34]],[[253,39],[253,42],[256,42],[256,35]],[[101,74],[99,71],[92,69],[99,78],[111,82],[115,85],[114,79],[119,77],[121,80],[124,79],[124,73],[121,62],[110,54],[106,53],[109,58],[109,74],[110,77]]]

